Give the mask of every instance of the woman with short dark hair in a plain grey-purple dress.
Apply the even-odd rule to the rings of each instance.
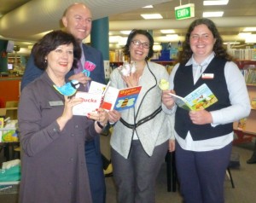
[[[84,142],[108,122],[99,110],[90,119],[73,116],[73,106],[83,102],[55,90],[66,83],[65,76],[77,67],[81,49],[73,35],[49,32],[33,50],[37,67],[44,73],[22,90],[19,103],[21,152],[20,203],[92,202]]]

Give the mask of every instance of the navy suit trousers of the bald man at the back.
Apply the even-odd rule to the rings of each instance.
[[[85,142],[86,165],[93,203],[106,202],[106,185],[99,145],[99,137],[95,137],[94,141]]]

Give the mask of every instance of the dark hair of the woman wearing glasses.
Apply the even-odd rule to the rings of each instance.
[[[146,61],[148,61],[148,59],[150,59],[153,55],[154,55],[154,50],[153,50],[153,45],[154,45],[154,38],[151,36],[151,34],[146,31],[146,30],[132,30],[131,33],[129,34],[128,38],[127,38],[127,42],[125,44],[125,47],[123,48],[123,52],[125,55],[128,55],[130,58],[130,51],[129,51],[129,47],[131,45],[131,41],[132,39],[137,35],[137,34],[142,34],[144,36],[146,36],[148,38],[149,41],[149,51],[148,51],[148,56],[146,57]]]

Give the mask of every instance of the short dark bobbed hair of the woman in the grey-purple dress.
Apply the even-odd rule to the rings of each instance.
[[[47,61],[45,61],[45,56],[63,44],[73,44],[72,67],[77,67],[77,62],[81,57],[81,48],[73,35],[61,30],[49,32],[33,46],[32,55],[34,56],[35,65],[45,70],[48,65]]]

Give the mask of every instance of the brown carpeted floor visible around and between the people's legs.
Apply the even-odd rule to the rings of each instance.
[[[103,140],[108,140],[103,137]],[[103,141],[104,144],[105,141]],[[104,144],[105,145],[105,144]],[[105,145],[106,146],[106,145]],[[107,154],[106,148],[102,151]],[[225,203],[253,203],[255,202],[256,188],[256,164],[247,165],[246,160],[253,153],[253,142],[233,146],[233,152],[240,154],[241,166],[237,169],[231,169],[231,174],[235,183],[235,188],[231,187],[228,177],[224,183]],[[0,154],[0,163],[3,162],[3,152]],[[116,190],[112,177],[106,177],[107,185],[107,202],[116,203]],[[0,193],[1,203],[16,203],[18,194]],[[178,192],[167,192],[166,186],[166,164],[163,164],[156,184],[156,203],[181,203],[182,198]],[[40,202],[38,202],[40,203]]]

